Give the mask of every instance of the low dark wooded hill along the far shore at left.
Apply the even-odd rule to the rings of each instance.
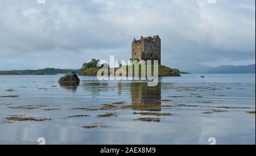
[[[9,71],[0,71],[0,73],[19,73],[19,74],[66,74],[72,73],[75,71],[76,73],[80,73],[80,69],[55,69],[55,68],[46,68],[46,69],[38,69],[38,70],[9,70]]]

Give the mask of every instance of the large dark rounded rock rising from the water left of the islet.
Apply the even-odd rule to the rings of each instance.
[[[67,74],[61,77],[58,82],[60,85],[76,86],[79,85],[80,79],[76,74]]]

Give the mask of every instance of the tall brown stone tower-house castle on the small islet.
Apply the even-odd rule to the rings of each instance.
[[[139,40],[134,38],[131,49],[132,60],[158,60],[158,64],[161,64],[161,39],[158,35],[141,36]]]

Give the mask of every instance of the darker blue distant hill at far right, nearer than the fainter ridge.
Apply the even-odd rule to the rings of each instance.
[[[212,74],[255,74],[255,64],[247,66],[217,66],[216,68],[205,71]]]

